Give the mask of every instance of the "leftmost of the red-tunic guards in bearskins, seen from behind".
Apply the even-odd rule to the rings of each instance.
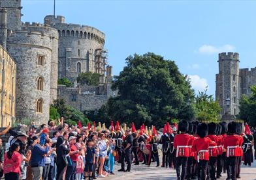
[[[189,143],[191,137],[187,135],[189,123],[182,120],[178,124],[180,134],[174,137],[174,148],[176,149],[176,173],[178,180],[184,180],[187,172],[187,159],[189,157]],[[182,166],[182,174],[180,174],[180,166]]]

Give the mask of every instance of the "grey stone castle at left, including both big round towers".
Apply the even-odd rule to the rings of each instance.
[[[93,91],[91,98],[105,97],[95,107],[99,109],[112,94],[112,67],[106,67],[104,33],[94,27],[67,24],[63,16],[46,16],[43,24],[22,23],[21,10],[21,0],[0,0],[0,44],[16,62],[16,118],[47,122],[50,104],[62,98],[61,94],[67,103],[76,94],[91,96],[75,83],[78,74],[86,71],[102,75],[101,84],[95,87],[101,90],[98,94]],[[60,86],[58,90],[58,77],[68,77],[74,87]]]

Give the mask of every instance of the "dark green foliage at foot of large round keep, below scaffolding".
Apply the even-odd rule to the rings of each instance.
[[[97,86],[99,85],[99,77],[101,77],[99,73],[92,73],[92,72],[80,73],[76,78],[76,81],[80,84]]]

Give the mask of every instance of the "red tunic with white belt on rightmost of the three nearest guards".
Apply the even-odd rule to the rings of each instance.
[[[224,139],[224,149],[227,149],[227,157],[238,157],[240,156],[240,137],[238,135],[229,135]]]

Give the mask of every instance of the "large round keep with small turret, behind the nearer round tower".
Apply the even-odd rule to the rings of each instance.
[[[59,77],[74,81],[81,72],[104,75],[106,57],[103,32],[85,25],[67,24],[63,16],[46,16],[44,24],[59,33]]]

